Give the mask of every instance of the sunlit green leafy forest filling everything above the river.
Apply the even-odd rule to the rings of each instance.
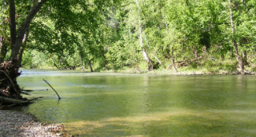
[[[0,62],[90,72],[255,72],[254,0],[1,0]]]

